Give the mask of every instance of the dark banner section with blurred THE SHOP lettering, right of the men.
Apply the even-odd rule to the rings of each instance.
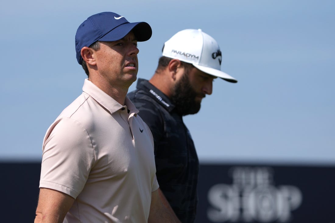
[[[334,223],[335,166],[200,167],[197,223]]]

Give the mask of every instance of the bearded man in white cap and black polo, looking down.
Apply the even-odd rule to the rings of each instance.
[[[199,161],[182,117],[200,110],[215,78],[237,82],[220,70],[221,61],[211,36],[200,29],[179,31],[164,43],[152,78],[139,79],[128,93],[153,135],[159,194],[184,223],[196,215]]]

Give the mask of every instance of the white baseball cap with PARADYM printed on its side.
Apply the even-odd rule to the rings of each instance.
[[[184,29],[164,43],[163,56],[193,64],[199,70],[236,83],[232,76],[221,71],[222,55],[219,45],[201,29]]]

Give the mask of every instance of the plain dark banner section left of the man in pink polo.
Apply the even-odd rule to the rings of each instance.
[[[0,162],[0,222],[34,222],[41,163]]]

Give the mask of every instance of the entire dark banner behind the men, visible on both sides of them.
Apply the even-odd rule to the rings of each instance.
[[[40,168],[0,162],[0,222],[34,222]],[[335,223],[334,175],[335,166],[201,164],[196,223]]]

